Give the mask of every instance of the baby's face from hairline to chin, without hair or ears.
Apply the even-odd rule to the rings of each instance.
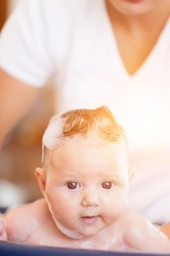
[[[116,222],[129,184],[125,140],[102,146],[90,141],[74,138],[53,152],[45,187],[55,222],[81,236],[93,236]]]

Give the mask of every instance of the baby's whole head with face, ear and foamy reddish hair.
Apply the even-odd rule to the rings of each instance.
[[[43,136],[36,177],[66,236],[93,236],[117,221],[129,179],[127,141],[107,107],[54,116]]]

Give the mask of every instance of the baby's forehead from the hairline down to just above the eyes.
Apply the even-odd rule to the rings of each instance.
[[[128,157],[125,151],[117,157],[115,151],[104,146],[88,146],[87,140],[72,140],[61,151],[53,151],[50,162],[53,174],[61,178],[82,178],[83,181],[95,181],[98,178],[114,178],[123,182],[128,176]],[[75,146],[75,147],[74,147]],[[82,148],[83,147],[83,148]],[[100,150],[101,149],[101,150]]]

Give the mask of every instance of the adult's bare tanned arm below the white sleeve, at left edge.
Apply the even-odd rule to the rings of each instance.
[[[0,69],[0,145],[34,102],[39,89],[13,78]]]

